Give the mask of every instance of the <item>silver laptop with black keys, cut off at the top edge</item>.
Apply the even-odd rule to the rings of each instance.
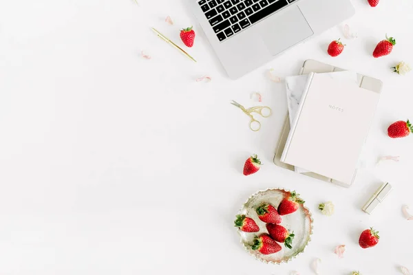
[[[350,0],[189,0],[230,78],[351,17]]]

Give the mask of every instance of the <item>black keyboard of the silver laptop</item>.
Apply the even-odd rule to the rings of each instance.
[[[202,11],[219,41],[241,32],[295,0],[201,0]]]

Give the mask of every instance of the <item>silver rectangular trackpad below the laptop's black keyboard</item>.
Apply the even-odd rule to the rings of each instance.
[[[260,32],[273,56],[314,34],[297,6],[267,19]]]

